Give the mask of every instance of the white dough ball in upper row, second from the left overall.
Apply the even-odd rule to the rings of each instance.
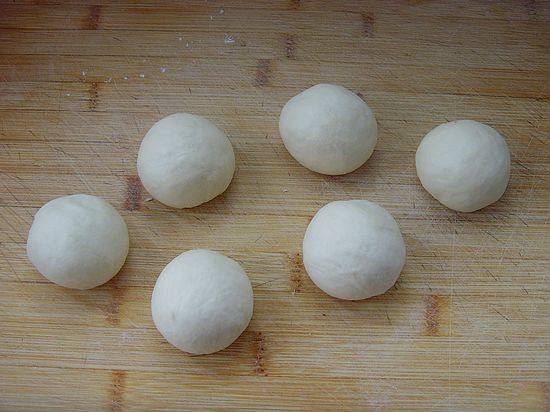
[[[212,122],[188,113],[159,120],[139,148],[137,168],[147,191],[175,208],[195,207],[223,193],[235,171],[227,136]]]

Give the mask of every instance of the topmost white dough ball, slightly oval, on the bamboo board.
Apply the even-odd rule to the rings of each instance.
[[[371,156],[377,139],[372,110],[355,93],[318,84],[283,107],[279,132],[290,154],[317,173],[342,175]]]

